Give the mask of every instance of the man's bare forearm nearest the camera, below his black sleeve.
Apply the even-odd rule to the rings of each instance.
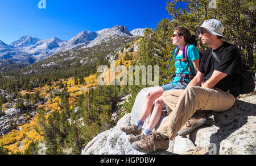
[[[219,72],[214,70],[212,76],[207,80],[202,87],[212,89],[220,80],[228,76],[226,73]]]

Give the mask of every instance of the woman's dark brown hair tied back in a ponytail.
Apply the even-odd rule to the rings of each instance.
[[[176,27],[175,31],[177,31],[177,35],[184,36],[185,43],[193,44],[195,46],[197,45],[196,35],[191,35],[191,33],[189,32],[189,30],[187,28]]]

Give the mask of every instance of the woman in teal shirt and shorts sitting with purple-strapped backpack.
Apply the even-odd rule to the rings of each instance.
[[[156,124],[159,123],[159,120],[162,117],[162,108],[166,105],[162,99],[163,92],[171,89],[185,89],[190,80],[189,76],[195,76],[199,69],[199,51],[196,48],[196,36],[191,35],[187,28],[176,27],[171,39],[173,44],[178,47],[174,52],[176,75],[172,78],[169,84],[163,85],[147,94],[146,102],[142,107],[140,117],[136,124],[129,127],[121,127],[121,131],[134,135],[129,138],[130,143],[141,140],[144,136],[150,134],[152,130],[154,130]],[[187,48],[187,63],[183,56],[186,45],[189,45]],[[142,134],[142,126],[148,115],[150,115],[154,102],[155,106],[151,114],[150,123],[144,131],[144,134]]]

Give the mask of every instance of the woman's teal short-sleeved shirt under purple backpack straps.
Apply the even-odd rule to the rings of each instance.
[[[176,51],[177,49],[175,50],[174,55],[176,55]],[[195,73],[195,69],[192,61],[200,58],[199,51],[195,47],[195,45],[189,45],[187,56],[188,56],[189,66],[191,67],[191,74],[195,75],[196,73]],[[182,54],[177,55],[175,59],[176,60],[183,59],[183,55]],[[175,68],[176,68],[175,74],[180,74],[180,73],[188,74],[188,65],[184,61],[175,61]],[[176,85],[179,82],[179,80],[180,80],[180,77],[175,77],[174,80],[172,81],[172,85]],[[188,79],[185,79],[185,81],[189,82]]]

